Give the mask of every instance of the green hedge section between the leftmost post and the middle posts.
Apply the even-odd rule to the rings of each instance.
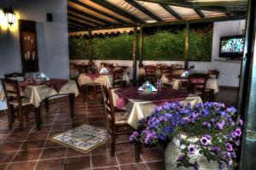
[[[94,59],[132,59],[133,35],[118,37],[95,37],[92,39]]]

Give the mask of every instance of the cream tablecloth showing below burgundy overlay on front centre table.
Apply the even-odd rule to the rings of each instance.
[[[114,89],[112,89],[113,94],[113,105],[116,105],[117,100],[119,99],[119,96],[114,93]],[[195,94],[189,94],[189,96],[182,100],[183,103],[190,103],[192,106],[198,103],[202,103],[201,97],[197,96]],[[151,116],[154,111],[154,103],[152,101],[145,101],[145,100],[139,100],[139,99],[129,99],[129,102],[125,107],[123,108],[125,111],[128,112],[129,118],[128,118],[128,124],[137,129],[138,127],[138,121],[142,119],[143,117]]]

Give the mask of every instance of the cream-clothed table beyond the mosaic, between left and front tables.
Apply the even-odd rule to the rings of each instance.
[[[130,84],[130,78],[126,72],[124,72],[123,81],[125,81],[126,84]],[[107,88],[113,88],[113,74],[83,73],[79,75],[79,86],[95,82]]]

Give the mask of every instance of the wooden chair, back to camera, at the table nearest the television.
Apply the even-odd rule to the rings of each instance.
[[[202,100],[205,100],[206,85],[207,85],[208,74],[191,74],[189,75],[189,82],[193,85],[193,94],[201,96]]]

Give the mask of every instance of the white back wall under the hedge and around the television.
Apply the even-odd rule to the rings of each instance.
[[[231,20],[214,22],[213,24],[213,35],[212,35],[212,62],[189,62],[189,65],[195,65],[195,69],[198,71],[208,71],[209,69],[216,69],[220,71],[219,85],[238,87],[241,63],[222,62],[214,59],[219,59],[218,48],[220,37],[236,36],[241,35],[241,31],[245,28],[245,20]],[[82,63],[88,62],[86,59],[72,59],[70,62]],[[96,65],[100,65],[101,62],[108,62],[118,65],[128,65],[132,67],[132,60],[95,60]],[[154,64],[166,64],[171,65],[173,63],[182,64],[183,61],[149,61],[143,60],[143,65],[154,65]],[[132,78],[132,69],[130,78]]]

